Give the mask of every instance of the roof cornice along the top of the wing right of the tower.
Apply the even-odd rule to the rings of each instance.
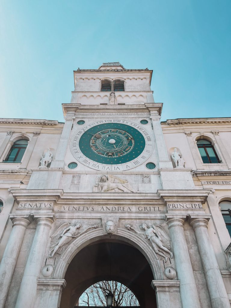
[[[231,117],[221,118],[181,118],[160,122],[162,125],[201,124],[201,123],[231,123]]]

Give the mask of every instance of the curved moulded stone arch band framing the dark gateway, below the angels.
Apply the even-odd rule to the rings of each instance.
[[[75,241],[73,241],[61,255],[55,268],[53,278],[64,279],[69,263],[81,249],[83,249],[89,244],[99,241],[100,239],[108,239],[110,241],[110,238],[110,235],[103,235],[103,228],[94,229],[88,231],[85,234],[82,234]],[[132,233],[131,231],[122,228],[118,228],[117,234],[113,235],[113,239],[123,241],[124,243],[132,245],[133,247],[138,249],[147,259],[151,267],[154,279],[165,279],[159,259],[155,257],[151,246],[149,246],[144,239]]]

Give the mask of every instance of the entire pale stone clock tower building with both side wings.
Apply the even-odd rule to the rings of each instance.
[[[141,307],[230,307],[231,239],[220,203],[231,201],[231,118],[160,122],[151,77],[120,63],[78,69],[65,123],[0,119],[0,308],[73,308],[87,287],[110,278]],[[106,82],[111,91],[101,91]],[[134,128],[143,150],[125,162],[95,161],[79,141],[101,124]],[[203,162],[200,139],[217,162]],[[9,160],[18,140],[27,140],[25,153]]]

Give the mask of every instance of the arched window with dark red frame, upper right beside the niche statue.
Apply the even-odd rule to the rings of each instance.
[[[201,158],[204,164],[219,164],[221,160],[217,156],[213,145],[209,140],[206,139],[199,139],[197,140],[197,147],[201,154]]]

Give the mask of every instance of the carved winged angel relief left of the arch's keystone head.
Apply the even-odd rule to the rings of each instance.
[[[55,253],[62,253],[64,245],[71,242],[75,237],[80,236],[84,232],[92,228],[99,228],[99,225],[91,225],[79,233],[81,227],[80,222],[75,222],[74,225],[70,225],[68,222],[62,224],[56,231],[51,235],[51,246],[49,250],[49,257],[53,257]]]

